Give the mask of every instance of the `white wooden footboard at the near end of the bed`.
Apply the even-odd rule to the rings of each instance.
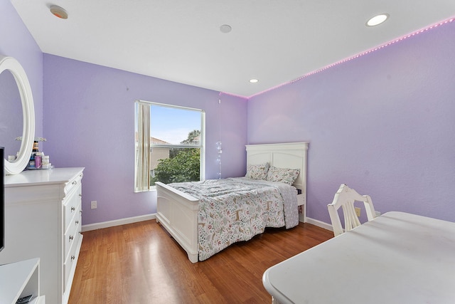
[[[199,200],[161,182],[156,182],[156,196],[156,221],[188,253],[189,260],[196,263]]]

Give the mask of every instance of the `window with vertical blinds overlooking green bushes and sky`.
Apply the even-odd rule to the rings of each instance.
[[[203,110],[137,100],[135,117],[134,192],[204,178]]]

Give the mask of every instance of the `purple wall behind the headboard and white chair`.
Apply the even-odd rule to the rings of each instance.
[[[248,142],[309,141],[308,216],[342,183],[375,209],[455,221],[455,22],[248,102]]]

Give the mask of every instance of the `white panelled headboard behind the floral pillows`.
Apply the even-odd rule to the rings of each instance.
[[[294,187],[306,193],[306,155],[308,142],[291,142],[286,144],[246,145],[247,166],[249,164],[262,164],[300,169],[299,177],[294,182]]]

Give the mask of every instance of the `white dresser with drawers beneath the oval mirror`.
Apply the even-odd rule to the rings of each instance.
[[[5,248],[0,264],[40,258],[48,304],[68,303],[82,244],[84,168],[24,171],[5,177]]]

